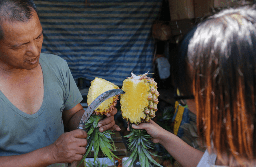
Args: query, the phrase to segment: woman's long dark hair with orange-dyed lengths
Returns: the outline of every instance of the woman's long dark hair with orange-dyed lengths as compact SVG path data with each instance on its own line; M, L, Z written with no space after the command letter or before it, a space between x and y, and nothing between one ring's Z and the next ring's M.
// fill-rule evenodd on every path
M188 45L187 62L193 73L200 139L218 157L227 155L242 166L253 166L256 157L255 7L226 9L199 23Z

